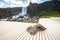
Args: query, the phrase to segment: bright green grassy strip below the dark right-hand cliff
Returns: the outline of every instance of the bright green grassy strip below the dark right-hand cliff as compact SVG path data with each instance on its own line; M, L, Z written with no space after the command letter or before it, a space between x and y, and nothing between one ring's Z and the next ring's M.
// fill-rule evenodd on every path
M36 12L35 15L40 16L42 18L60 17L60 13L59 12L42 11L42 12Z

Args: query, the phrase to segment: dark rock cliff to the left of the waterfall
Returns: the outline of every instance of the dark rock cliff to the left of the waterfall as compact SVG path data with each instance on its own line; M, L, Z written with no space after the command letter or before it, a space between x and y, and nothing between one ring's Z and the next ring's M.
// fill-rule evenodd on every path
M21 7L15 8L0 8L0 18L12 17L21 12Z

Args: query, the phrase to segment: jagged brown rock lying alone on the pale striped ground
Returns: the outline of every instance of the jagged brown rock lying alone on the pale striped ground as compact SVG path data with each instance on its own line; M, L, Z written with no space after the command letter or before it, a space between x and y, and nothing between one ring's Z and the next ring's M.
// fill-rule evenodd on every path
M38 31L44 31L46 30L46 28L40 24L37 24L37 25L34 25L33 27L29 26L26 30L29 34L35 35Z

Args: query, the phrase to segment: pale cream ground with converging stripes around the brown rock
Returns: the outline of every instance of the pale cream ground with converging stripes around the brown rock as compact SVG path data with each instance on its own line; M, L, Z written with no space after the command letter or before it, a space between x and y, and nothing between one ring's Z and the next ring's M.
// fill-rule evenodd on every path
M36 23L0 21L0 40L60 40L60 21L40 19L38 23L47 29L33 36L26 28Z

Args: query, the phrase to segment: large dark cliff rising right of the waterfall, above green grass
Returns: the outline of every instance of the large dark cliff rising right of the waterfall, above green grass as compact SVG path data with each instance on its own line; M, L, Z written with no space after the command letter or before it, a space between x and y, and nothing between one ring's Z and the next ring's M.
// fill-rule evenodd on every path
M46 1L40 4L30 3L27 10L30 16L34 16L34 13L41 11L60 12L60 1Z

